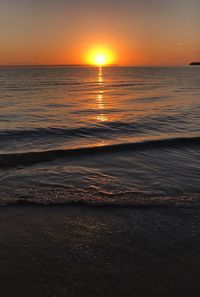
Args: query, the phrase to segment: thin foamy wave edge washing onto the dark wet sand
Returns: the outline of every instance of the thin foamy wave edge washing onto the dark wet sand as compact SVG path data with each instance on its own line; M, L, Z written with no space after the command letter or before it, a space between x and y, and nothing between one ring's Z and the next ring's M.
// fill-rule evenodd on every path
M132 194L132 195L131 195ZM125 197L124 197L125 196ZM136 197L135 197L136 196ZM78 198L79 197L79 198ZM156 195L135 195L130 193L129 197L123 193L119 195L113 195L112 199L107 197L87 199L85 196L77 197L72 196L68 199L60 200L43 200L43 199L6 199L0 201L0 207L8 206L43 206L43 207L62 207L67 205L74 206L90 206L90 207L134 207L134 208L200 208L200 194L191 193L180 196L156 196Z

